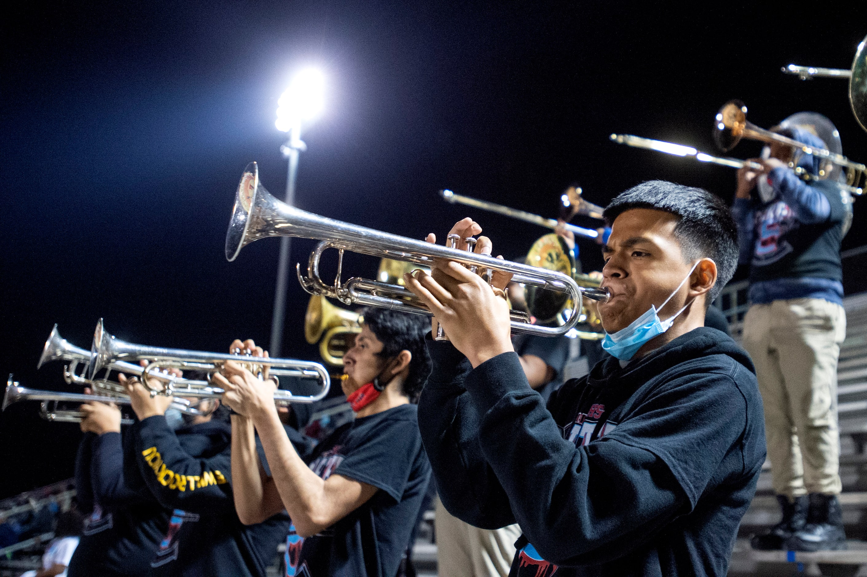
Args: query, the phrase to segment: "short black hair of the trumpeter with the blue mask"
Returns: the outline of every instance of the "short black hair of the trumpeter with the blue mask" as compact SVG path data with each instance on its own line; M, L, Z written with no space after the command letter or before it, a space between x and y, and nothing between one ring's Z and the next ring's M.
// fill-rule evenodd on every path
M710 305L738 267L738 227L720 197L703 188L685 187L667 180L648 180L618 194L605 207L603 217L611 223L632 208L651 208L672 213L680 220L675 238L687 262L709 258L716 263L716 284L710 290Z

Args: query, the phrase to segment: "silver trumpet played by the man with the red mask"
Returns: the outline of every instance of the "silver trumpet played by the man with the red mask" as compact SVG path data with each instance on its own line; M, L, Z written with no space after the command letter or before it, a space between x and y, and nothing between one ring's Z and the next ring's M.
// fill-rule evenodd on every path
M320 390L316 395L293 395L289 390L277 389L274 391L274 401L278 404L286 403L315 403L323 399L331 386L329 371L322 364L312 361L302 361L295 358L260 358L251 355L188 351L186 349L167 349L145 344L132 344L114 338L105 330L102 319L96 324L94 331L94 343L88 354L88 376L93 376L102 368L117 365L126 361L150 361L144 369L140 370L141 384L151 394L174 395L180 397L215 398L220 397L225 391L214 386L210 379L207 381L192 381L189 379L170 377L160 373L160 369L191 369L205 370L214 373L220 370L226 361L236 361L245 364L254 374L260 376L268 367L272 377L301 377L315 378ZM128 363L125 363L128 364ZM131 366L136 366L132 364ZM161 384L153 384L151 379L156 377Z

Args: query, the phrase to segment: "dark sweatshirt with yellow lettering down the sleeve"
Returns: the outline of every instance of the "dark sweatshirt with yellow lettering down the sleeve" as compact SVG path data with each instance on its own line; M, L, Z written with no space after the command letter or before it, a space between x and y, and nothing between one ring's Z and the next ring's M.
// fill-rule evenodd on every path
M264 577L289 530L285 515L257 525L238 519L231 493L231 425L212 420L173 431L166 417L134 423L137 464L171 512L151 575Z

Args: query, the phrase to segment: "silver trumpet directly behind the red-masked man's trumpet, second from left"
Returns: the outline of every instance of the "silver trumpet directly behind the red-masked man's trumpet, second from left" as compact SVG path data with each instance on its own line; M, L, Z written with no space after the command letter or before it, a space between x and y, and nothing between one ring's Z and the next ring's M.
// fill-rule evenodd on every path
M117 381L108 379L108 373L112 370L117 370L118 372L141 377L142 373L145 371L137 364L118 361L115 363L109 363L105 367L106 376L104 378L88 378L85 377L85 375L88 372L90 357L90 351L77 347L75 344L70 344L68 340L60 336L60 333L57 331L57 325L54 325L54 328L51 329L51 334L49 335L48 340L45 341L45 346L42 348L42 355L39 357L39 363L36 364L36 368L39 369L42 367L42 364L50 363L52 361L68 361L68 364L63 368L63 380L68 384L80 384L82 387L90 387L92 390L100 392L107 397L114 398L115 402L118 402L117 399L128 399L127 390ZM79 364L84 364L84 370L81 375L76 373ZM182 386L207 386L208 384L207 381L196 381L174 377L173 375L160 373L155 370L148 371L148 377L152 379L155 378L164 383L180 384ZM208 415L211 412L201 411L193 407L192 403L184 398L176 398L172 403L172 407L188 415Z

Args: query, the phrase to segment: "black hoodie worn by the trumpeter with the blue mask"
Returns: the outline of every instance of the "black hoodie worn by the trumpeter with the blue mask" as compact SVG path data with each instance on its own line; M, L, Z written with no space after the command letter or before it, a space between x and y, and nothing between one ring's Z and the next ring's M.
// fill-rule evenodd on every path
M726 574L765 461L731 338L701 327L625 368L611 357L548 410L515 353L473 370L450 343L428 350L419 426L440 498L477 527L520 524L510 575Z

